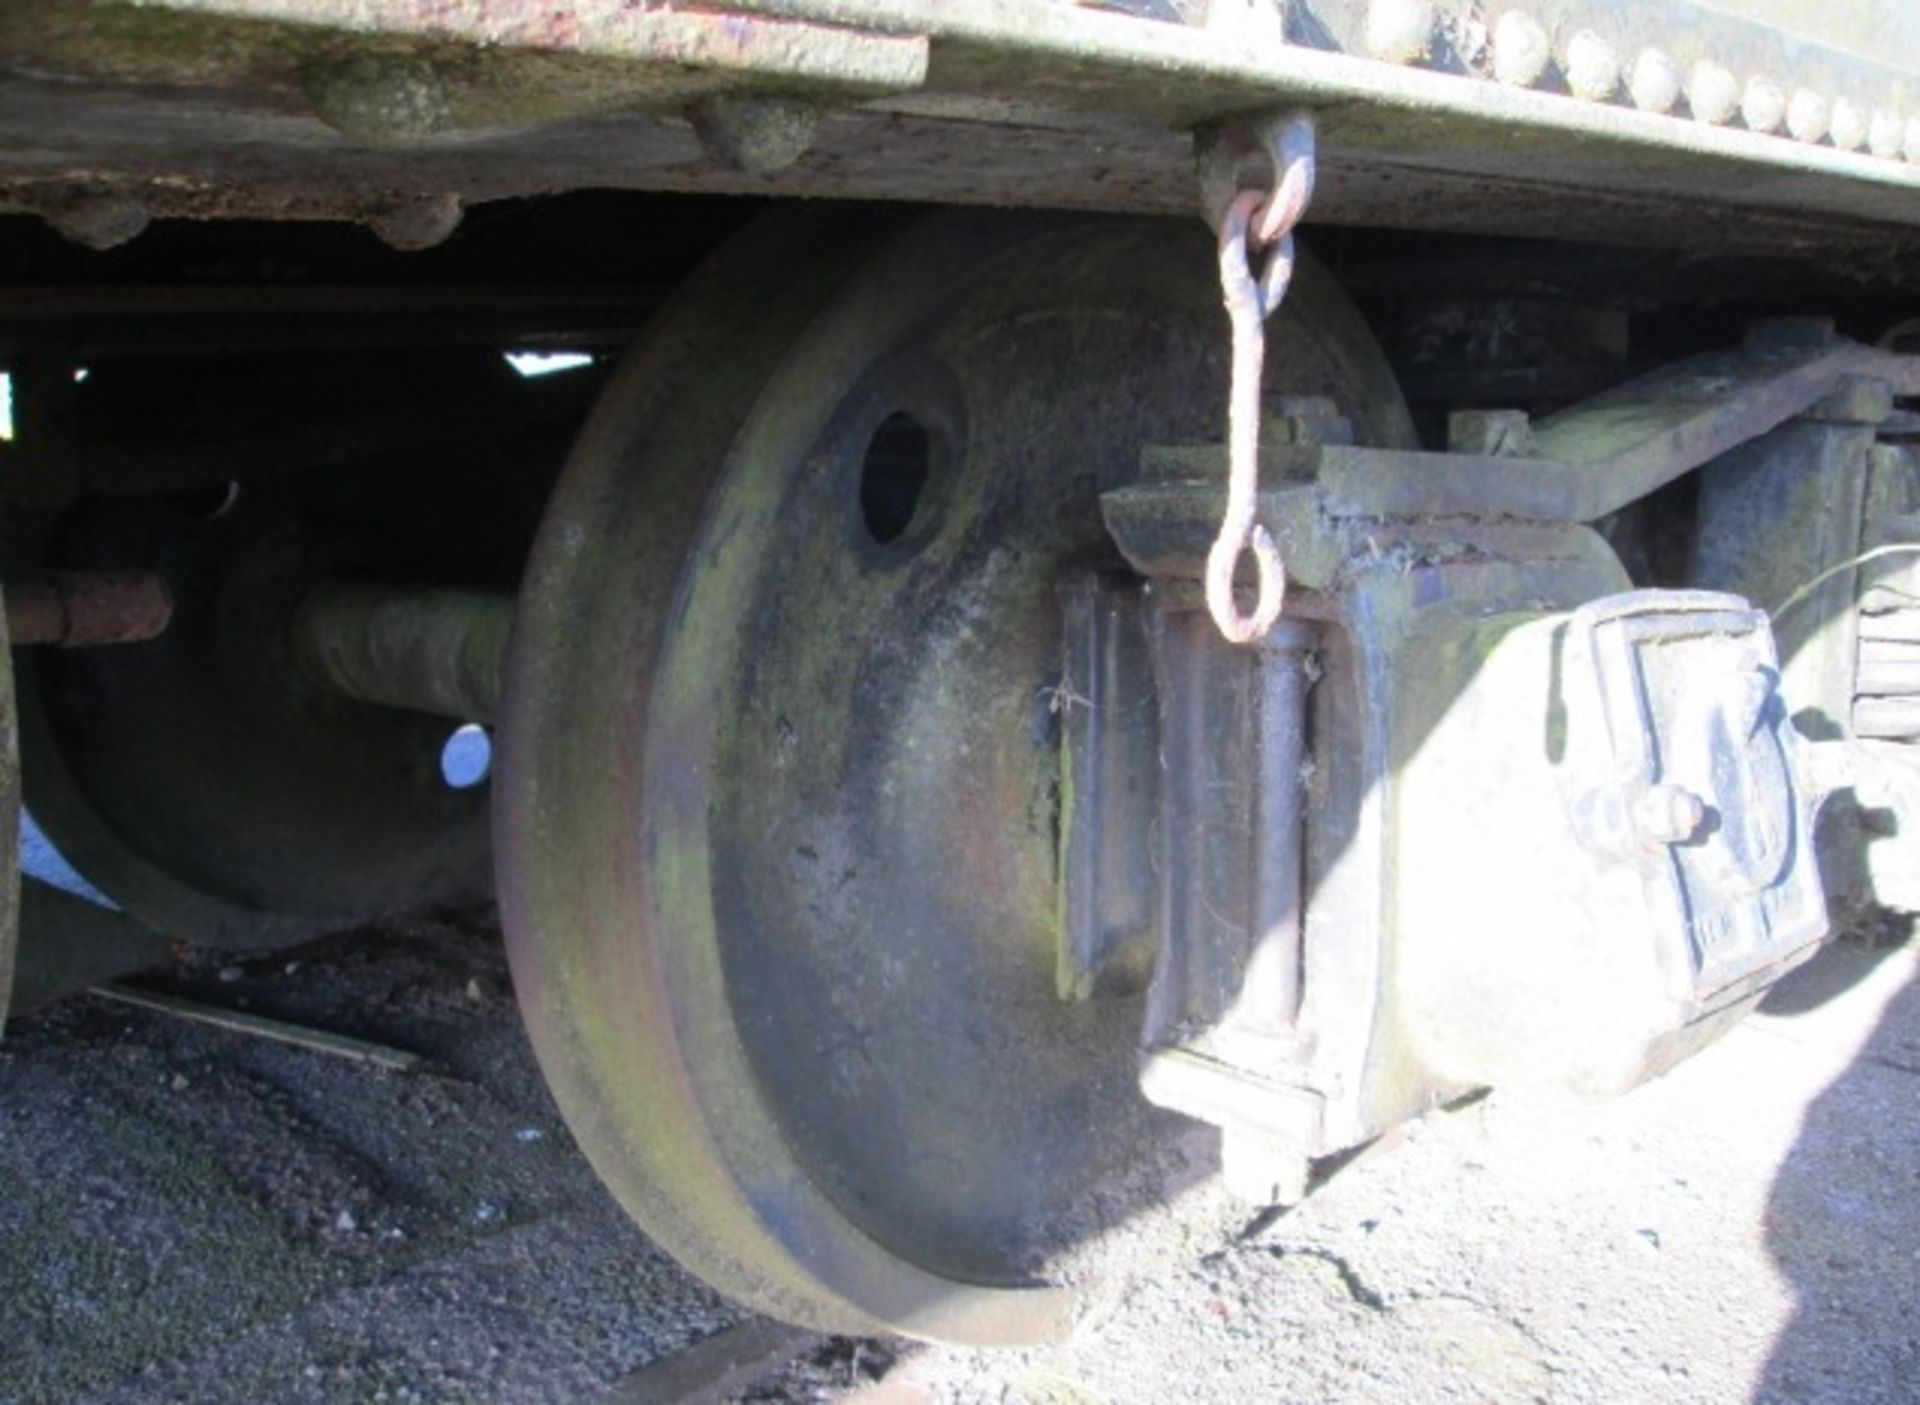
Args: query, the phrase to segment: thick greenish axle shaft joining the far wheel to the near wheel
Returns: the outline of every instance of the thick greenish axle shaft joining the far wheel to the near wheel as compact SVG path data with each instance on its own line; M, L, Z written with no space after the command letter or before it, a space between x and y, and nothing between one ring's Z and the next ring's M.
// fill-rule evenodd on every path
M505 591L330 582L294 616L294 656L359 702L492 722L511 628Z

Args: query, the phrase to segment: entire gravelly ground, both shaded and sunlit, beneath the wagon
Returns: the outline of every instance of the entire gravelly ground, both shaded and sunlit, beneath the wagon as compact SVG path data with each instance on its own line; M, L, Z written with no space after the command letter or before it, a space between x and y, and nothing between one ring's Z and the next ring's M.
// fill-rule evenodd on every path
M430 1063L98 998L15 1021L0 1401L641 1401L751 1336L582 1163L486 917L167 985ZM1069 1345L808 1342L745 1397L1914 1401L1916 1094L1920 956L1836 944L1668 1079L1432 1119Z

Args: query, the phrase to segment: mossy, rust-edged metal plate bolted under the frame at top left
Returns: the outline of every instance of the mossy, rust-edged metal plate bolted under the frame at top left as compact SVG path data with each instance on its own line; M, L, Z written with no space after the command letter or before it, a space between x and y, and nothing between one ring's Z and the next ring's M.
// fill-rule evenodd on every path
M69 79L246 94L363 142L678 113L722 90L914 88L925 44L799 21L549 4L0 6L0 60Z

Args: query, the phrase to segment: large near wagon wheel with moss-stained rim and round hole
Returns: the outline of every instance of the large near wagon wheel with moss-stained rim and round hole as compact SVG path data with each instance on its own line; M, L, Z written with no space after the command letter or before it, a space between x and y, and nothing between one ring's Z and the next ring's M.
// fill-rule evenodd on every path
M1271 392L1405 409L1306 263ZM1087 1246L1210 1173L1137 998L1054 987L1064 572L1217 436L1206 234L783 215L609 386L524 578L495 804L536 1050L720 1290L822 1328L1064 1332Z

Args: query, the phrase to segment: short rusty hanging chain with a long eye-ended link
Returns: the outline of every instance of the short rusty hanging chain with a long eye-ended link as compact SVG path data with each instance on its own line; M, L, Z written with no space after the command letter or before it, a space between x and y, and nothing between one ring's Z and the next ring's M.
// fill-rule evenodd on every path
M1219 286L1233 326L1227 390L1227 514L1206 559L1206 605L1229 643L1252 643L1273 628L1286 603L1286 562L1260 511L1260 382L1267 357L1267 319L1294 274L1294 225L1313 198L1313 119L1296 113L1265 132L1273 190L1236 190L1219 215ZM1265 250L1256 271L1254 259ZM1233 576L1240 553L1254 555L1258 597L1240 614Z

